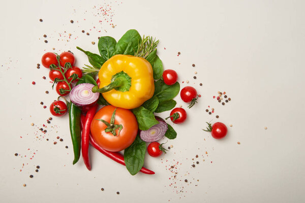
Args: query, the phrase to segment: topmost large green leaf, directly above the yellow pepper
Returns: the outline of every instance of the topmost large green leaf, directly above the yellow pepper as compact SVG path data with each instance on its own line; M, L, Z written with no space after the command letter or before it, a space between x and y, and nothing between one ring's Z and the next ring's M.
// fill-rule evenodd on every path
M135 55L142 38L135 29L128 30L115 45L115 54Z

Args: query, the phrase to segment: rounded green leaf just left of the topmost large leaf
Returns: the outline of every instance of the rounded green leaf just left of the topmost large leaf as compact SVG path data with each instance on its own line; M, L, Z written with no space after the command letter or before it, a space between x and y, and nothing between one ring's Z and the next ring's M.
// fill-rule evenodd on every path
M111 58L111 56L114 55L115 45L116 45L116 41L112 37L106 36L106 37L101 37L99 39L99 44L98 44L99 52L105 60L108 60L109 58Z

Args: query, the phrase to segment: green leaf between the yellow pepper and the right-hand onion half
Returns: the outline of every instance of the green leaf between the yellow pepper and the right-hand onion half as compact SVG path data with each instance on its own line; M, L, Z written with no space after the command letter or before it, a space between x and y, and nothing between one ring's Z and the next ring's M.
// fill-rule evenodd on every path
M153 112L145 109L142 106L133 109L132 112L137 118L140 130L148 130L151 126L159 123L159 121L156 120Z

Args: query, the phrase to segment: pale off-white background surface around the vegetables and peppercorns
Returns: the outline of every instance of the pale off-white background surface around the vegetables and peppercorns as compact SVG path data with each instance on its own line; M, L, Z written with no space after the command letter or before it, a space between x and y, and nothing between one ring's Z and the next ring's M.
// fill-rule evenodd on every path
M1 201L304 202L304 2L121 2L2 3ZM105 3L112 6L115 28L94 8ZM145 157L145 166L156 175L131 176L125 167L94 149L89 150L93 164L89 172L81 159L72 165L67 116L53 118L52 128L40 140L38 128L50 116L40 101L48 106L57 95L48 82L48 70L42 66L37 70L36 63L55 47L57 53L74 52L77 65L82 66L87 59L76 46L98 53L99 36L118 40L131 28L160 39L158 54L165 69L176 70L181 88L187 85L181 82L189 80L202 97L187 110L187 122L174 126L178 136L166 144L174 146L171 151L161 158ZM82 29L90 35L81 33ZM67 42L68 37L58 37L58 33L72 33L77 39ZM232 101L221 106L212 98L217 91L226 91ZM179 96L176 100L187 109ZM208 115L207 106L216 113ZM212 139L201 130L212 119L233 125L224 140ZM31 126L32 122L37 126ZM58 144L53 145L54 141ZM196 154L200 163L192 168ZM166 168L177 161L173 179ZM41 166L39 173L36 165Z

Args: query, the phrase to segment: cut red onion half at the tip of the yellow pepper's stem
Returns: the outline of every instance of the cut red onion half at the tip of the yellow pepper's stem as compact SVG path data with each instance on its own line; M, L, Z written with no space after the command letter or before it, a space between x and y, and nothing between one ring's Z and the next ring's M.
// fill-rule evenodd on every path
M99 99L100 93L93 93L93 87L94 85L90 83L76 85L70 92L70 100L78 107L95 104Z

